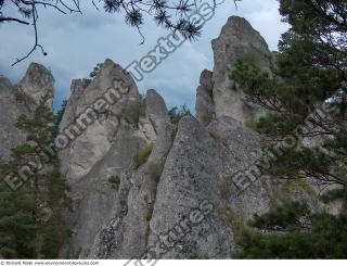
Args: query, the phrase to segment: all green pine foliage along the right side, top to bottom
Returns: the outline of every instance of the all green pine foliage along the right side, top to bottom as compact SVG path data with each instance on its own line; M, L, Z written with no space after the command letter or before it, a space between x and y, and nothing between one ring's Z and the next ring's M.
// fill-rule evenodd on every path
M272 147L284 143L287 136L297 139L262 173L346 186L347 5L333 0L280 0L280 12L292 27L282 36L272 74L248 59L240 60L231 74L249 101L270 111L249 122L250 128L266 135ZM325 109L317 112L318 106ZM303 139L312 137L320 137L320 148L303 144ZM332 190L321 200L346 201L345 193L345 189ZM249 223L258 230L243 231L239 256L346 258L346 212L334 216L310 214L300 203L278 206Z

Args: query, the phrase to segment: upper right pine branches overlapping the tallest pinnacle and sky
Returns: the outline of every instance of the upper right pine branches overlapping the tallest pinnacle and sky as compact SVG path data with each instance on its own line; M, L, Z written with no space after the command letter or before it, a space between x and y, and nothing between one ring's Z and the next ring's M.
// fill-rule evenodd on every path
M271 145L286 136L321 137L324 149L303 147L298 141L264 174L347 185L347 48L343 45L347 42L346 3L280 3L280 12L292 28L280 41L273 75L241 60L231 76L252 102L271 111L252 123L252 128L272 139ZM314 113L322 103L330 111Z

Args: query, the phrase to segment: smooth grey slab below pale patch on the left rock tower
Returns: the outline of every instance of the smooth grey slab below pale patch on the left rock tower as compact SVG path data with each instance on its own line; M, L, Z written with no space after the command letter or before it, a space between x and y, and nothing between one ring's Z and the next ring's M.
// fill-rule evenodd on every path
M74 233L62 257L110 258L114 250L119 249L123 239L116 233L128 212L130 169L138 145L132 127L120 125L104 157L72 186L75 211L67 221ZM120 178L119 190L108 182L112 176Z

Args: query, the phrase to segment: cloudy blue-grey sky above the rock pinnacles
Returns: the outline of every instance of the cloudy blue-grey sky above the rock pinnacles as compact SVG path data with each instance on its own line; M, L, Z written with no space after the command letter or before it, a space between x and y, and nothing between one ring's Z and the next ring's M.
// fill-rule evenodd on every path
M81 2L83 15L44 11L39 17L39 38L48 56L37 51L13 67L11 64L15 59L31 48L33 29L17 24L0 26L0 74L17 83L30 62L46 65L55 78L55 107L68 98L72 79L88 77L93 66L107 58L126 67L145 55L156 46L158 38L168 34L147 21L143 26L145 42L140 46L141 37L136 29L125 25L121 14L105 14L97 11L90 1ZM147 74L138 84L140 92L156 89L169 107L185 103L194 110L200 74L214 65L210 41L219 36L228 17L245 17L265 37L270 49L277 50L281 34L287 29L287 25L281 23L278 9L277 0L243 0L237 9L233 0L226 0L204 26L202 37L195 42L187 41Z

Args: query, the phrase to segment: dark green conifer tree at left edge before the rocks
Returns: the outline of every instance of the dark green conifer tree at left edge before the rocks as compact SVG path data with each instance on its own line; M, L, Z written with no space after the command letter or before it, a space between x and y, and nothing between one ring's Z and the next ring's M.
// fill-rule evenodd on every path
M38 152L57 132L49 99L48 93L42 97L33 116L18 117L16 126L27 142L12 149L12 159L0 164L3 177L22 166L31 173L16 191L0 185L0 256L5 258L55 258L68 236L61 212L70 201L60 160L56 153L43 156Z

